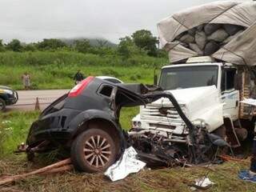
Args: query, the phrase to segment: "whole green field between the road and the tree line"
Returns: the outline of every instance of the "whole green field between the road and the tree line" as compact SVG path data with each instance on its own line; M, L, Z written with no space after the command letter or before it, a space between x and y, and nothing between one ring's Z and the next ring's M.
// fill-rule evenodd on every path
M124 82L153 83L154 68L167 63L166 58L134 56L99 56L76 52L0 53L0 84L22 90L21 76L30 74L33 89L69 89L74 74L82 70L86 76L108 75Z

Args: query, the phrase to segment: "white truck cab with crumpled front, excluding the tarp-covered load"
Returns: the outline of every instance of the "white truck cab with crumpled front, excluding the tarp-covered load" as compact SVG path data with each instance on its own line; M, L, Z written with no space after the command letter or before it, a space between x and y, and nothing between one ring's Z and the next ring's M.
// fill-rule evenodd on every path
M241 103L250 98L254 86L250 76L245 66L196 57L184 64L163 66L158 86L174 95L194 125L202 124L238 147L250 132L242 125L253 127L253 111ZM134 129L162 133L173 142L186 142L186 125L165 98L140 106L132 124Z

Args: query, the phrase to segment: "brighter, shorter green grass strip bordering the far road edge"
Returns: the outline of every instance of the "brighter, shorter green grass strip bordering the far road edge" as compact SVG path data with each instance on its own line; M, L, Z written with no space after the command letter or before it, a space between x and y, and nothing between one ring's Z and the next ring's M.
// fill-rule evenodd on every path
M153 83L154 70L143 69L132 66L125 68L122 66L5 66L1 70L0 82L2 85L11 86L13 89L22 90L21 75L24 71L30 73L32 86L34 89L70 89L74 86L73 76L78 69L81 69L86 76L108 75L120 78L123 82Z

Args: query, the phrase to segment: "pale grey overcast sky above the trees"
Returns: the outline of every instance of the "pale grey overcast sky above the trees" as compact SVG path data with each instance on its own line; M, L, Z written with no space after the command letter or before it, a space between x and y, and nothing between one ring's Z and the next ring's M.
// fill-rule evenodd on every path
M178 10L213 0L0 0L0 39L118 38L151 30Z

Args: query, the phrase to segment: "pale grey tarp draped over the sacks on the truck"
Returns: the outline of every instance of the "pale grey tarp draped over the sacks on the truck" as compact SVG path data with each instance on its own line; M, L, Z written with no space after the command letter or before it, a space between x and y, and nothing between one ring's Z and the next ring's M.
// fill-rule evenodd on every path
M159 22L160 42L169 51L170 62L198 56L193 50L174 42L174 39L182 32L204 23L246 27L242 34L211 56L238 65L256 65L256 2L253 1L212 2L183 10Z

